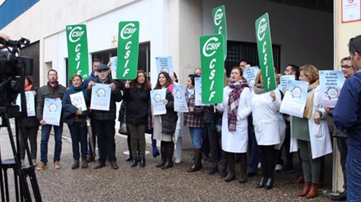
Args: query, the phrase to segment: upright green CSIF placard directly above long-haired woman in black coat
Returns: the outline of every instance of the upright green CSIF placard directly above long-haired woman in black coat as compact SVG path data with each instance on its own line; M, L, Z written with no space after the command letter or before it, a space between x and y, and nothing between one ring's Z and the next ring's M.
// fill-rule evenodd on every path
M135 79L138 71L139 22L119 22L117 78Z

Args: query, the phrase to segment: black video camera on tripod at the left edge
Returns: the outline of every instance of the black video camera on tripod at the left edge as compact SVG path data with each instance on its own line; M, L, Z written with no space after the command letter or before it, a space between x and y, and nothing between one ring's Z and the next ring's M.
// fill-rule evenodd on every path
M19 48L29 45L30 40L0 38L0 44L5 47L0 50L0 106L10 106L21 93L21 111L26 112L24 79L25 75L32 75L33 59L20 56Z

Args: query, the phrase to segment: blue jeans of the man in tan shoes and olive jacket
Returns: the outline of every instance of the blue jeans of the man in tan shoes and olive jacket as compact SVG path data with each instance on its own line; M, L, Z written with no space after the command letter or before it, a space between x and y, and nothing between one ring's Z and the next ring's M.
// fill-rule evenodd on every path
M42 139L40 141L40 160L43 163L48 163L48 141L52 126L53 125L48 125L48 124L42 126ZM54 126L54 138L55 138L54 162L60 161L62 133L63 133L63 123L60 121L59 126Z

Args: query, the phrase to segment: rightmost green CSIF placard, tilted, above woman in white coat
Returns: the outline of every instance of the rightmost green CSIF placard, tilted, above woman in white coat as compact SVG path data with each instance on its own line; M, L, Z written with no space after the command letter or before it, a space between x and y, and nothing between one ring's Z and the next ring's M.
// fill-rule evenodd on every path
M258 60L262 73L262 79L266 92L277 88L276 76L273 67L273 53L271 42L271 31L268 13L256 20L256 40Z

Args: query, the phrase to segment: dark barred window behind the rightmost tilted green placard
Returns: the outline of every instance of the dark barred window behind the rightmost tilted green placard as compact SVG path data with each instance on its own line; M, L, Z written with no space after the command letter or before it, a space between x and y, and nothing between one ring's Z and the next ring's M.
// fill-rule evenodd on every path
M281 47L272 45L273 63L280 68ZM227 59L225 60L225 69L229 76L232 67L239 66L240 59L248 60L252 66L259 66L257 43L227 41Z

